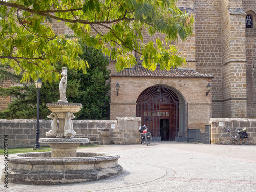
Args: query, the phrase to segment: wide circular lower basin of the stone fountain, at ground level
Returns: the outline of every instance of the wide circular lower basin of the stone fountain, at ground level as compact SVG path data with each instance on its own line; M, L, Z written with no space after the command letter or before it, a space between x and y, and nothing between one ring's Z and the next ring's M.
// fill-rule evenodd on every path
M8 182L54 185L104 179L122 173L119 158L93 152L66 158L52 158L51 152L12 154L8 157Z

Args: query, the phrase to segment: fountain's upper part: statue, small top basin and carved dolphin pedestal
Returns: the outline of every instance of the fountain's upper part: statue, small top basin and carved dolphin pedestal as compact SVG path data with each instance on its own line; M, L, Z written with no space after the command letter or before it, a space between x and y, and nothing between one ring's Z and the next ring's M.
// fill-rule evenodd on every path
M62 67L62 78L59 83L59 94L60 100L57 103L47 103L46 106L53 112L48 118L53 119L49 132L46 132L48 137L56 138L74 138L76 132L73 130L72 119L75 118L73 113L80 111L82 108L81 103L68 103L66 98L67 89L67 69ZM57 120L59 119L59 126L57 125Z

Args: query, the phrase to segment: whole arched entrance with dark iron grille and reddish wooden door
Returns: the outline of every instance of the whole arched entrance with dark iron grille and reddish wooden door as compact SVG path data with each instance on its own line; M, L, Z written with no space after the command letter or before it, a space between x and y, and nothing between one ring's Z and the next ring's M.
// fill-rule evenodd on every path
M153 141L187 141L187 105L175 88L147 88L136 103L136 116L148 127Z

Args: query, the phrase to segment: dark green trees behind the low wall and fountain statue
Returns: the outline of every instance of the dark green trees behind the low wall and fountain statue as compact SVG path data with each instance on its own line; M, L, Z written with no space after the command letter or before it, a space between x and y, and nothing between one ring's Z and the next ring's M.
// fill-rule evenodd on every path
M68 102L78 102L83 105L76 113L76 119L108 119L110 103L110 84L107 66L109 59L103 56L101 50L82 46L83 53L79 55L88 62L90 68L87 74L82 70L68 70L66 96ZM63 65L63 64L62 64ZM57 70L61 71L60 65ZM6 67L6 66L5 66ZM22 75L15 75L0 66L0 79L19 82ZM59 82L44 83L40 89L40 119L47 119L51 112L46 103L59 100ZM0 119L36 119L37 90L34 84L23 83L10 88L0 87L0 96L11 96L12 102L6 110L0 112Z

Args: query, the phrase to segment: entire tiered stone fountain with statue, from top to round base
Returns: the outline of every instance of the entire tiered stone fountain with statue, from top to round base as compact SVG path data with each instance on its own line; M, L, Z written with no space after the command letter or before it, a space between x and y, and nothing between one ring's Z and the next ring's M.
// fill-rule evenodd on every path
M62 68L59 84L60 100L47 103L52 119L47 138L39 139L47 143L51 152L20 153L8 156L8 182L18 184L51 185L84 182L103 179L122 173L118 155L106 153L77 152L80 143L88 143L87 138L75 138L73 113L82 108L81 103L68 103L66 98L67 68ZM58 123L59 122L59 123ZM59 124L59 126L58 126ZM1 180L4 180L4 170Z

